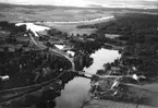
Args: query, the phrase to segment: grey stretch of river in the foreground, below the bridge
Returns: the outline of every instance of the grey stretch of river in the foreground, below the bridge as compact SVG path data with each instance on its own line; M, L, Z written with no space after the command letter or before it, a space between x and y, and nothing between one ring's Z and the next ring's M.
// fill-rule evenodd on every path
M65 85L61 97L57 98L56 108L80 108L88 94L90 81L84 77L76 77Z

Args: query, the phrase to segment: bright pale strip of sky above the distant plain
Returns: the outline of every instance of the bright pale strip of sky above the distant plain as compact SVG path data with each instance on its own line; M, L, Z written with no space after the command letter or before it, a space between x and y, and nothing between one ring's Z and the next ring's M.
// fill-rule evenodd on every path
M158 8L158 0L0 0L0 2L68 7Z

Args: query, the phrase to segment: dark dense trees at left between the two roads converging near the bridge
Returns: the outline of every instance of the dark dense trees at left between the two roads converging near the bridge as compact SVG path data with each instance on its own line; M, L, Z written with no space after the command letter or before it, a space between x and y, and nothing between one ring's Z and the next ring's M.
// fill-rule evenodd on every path
M5 48L3 52L0 52L0 75L11 77L3 88L24 86L41 82L45 79L52 79L59 75L60 71L69 70L71 67L70 61L45 50L24 51L23 48L20 48L10 52ZM47 76L50 73L53 75Z

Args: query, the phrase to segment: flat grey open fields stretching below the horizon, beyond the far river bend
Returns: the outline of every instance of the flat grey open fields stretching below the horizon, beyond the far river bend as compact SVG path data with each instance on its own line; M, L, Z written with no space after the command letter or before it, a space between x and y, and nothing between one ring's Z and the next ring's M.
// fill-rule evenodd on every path
M117 13L146 12L157 14L155 10L105 9L105 8L71 8L52 5L10 5L0 4L0 21L85 21L111 16Z

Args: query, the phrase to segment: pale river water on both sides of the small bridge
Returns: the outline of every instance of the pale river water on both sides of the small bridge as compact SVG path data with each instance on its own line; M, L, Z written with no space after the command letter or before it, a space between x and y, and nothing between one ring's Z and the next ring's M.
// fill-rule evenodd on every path
M96 73L98 69L102 68L104 63L112 62L114 59L120 58L118 50L99 49L92 55L94 63L84 70L88 73ZM57 98L56 108L80 108L85 97L88 95L90 88L90 80L84 77L75 77L69 82L61 96Z

